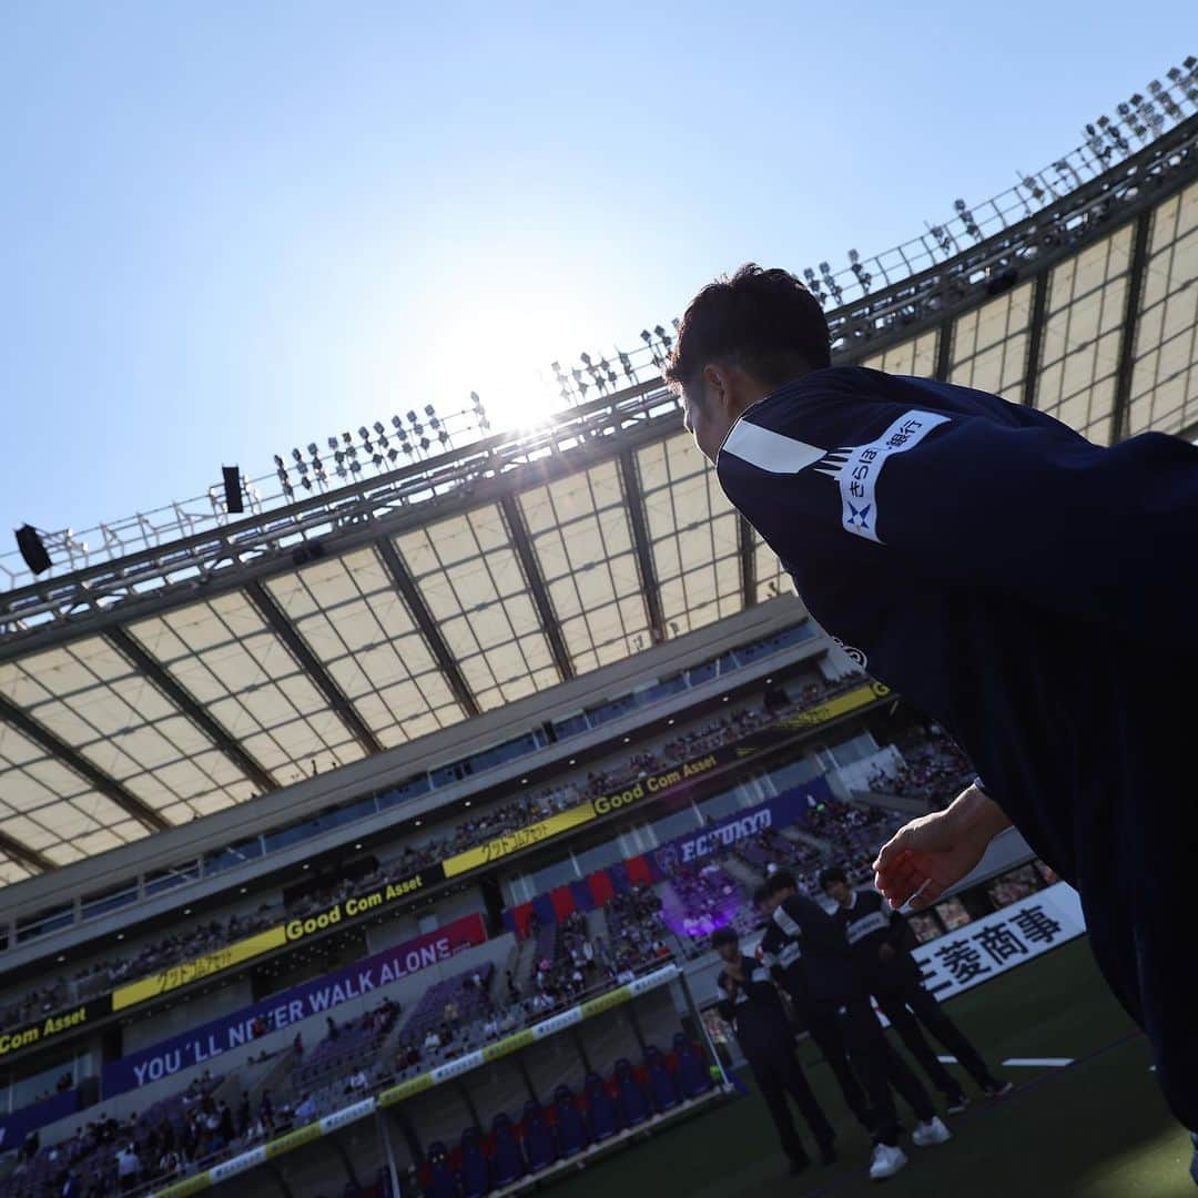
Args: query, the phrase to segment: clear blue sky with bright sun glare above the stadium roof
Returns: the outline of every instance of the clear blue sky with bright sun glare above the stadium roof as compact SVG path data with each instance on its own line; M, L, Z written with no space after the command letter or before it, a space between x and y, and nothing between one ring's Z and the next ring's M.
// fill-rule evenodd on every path
M24 4L0 16L0 550L876 253L1078 144L1193 0Z

